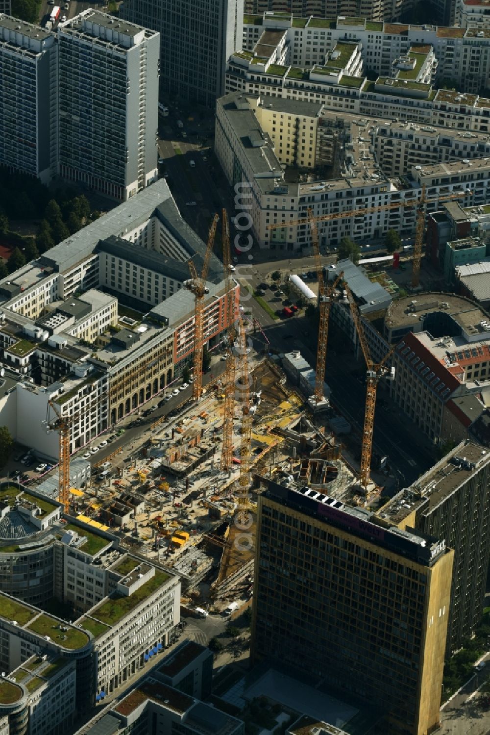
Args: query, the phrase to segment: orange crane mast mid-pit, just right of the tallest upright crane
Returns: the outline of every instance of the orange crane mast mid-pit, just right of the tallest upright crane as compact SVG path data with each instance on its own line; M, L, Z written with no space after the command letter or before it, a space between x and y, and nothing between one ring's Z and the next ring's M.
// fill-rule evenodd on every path
M240 384L239 392L241 393L242 404L242 442L240 444L240 474L239 474L239 492L238 492L238 513L237 520L240 525L246 526L248 523L248 495L251 485L250 465L251 465L251 442L252 442L252 413L250 401L250 376L248 375L248 359L247 359L247 339L245 335L245 327L242 318L239 318L239 335L237 356L239 360Z

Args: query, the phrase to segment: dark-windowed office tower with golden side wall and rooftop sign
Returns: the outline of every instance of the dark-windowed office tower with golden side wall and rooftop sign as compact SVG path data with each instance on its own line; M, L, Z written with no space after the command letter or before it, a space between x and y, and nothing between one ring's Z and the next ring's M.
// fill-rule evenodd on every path
M368 700L392 734L439 723L453 551L307 487L259 496L253 661Z

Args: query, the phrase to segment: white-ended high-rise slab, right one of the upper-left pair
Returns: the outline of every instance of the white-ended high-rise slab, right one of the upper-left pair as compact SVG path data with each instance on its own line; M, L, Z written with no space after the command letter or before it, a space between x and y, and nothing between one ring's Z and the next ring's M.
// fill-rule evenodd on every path
M60 176L125 201L158 176L159 35L85 10L58 43Z

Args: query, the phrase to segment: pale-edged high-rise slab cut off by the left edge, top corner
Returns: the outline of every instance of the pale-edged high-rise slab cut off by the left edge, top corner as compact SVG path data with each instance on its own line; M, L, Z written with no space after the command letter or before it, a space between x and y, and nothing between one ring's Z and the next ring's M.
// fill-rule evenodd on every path
M0 163L47 184L57 171L54 35L0 15Z

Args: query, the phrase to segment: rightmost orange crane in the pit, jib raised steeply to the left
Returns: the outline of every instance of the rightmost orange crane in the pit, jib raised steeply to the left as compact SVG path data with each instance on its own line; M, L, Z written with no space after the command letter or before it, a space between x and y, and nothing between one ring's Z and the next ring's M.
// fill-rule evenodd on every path
M366 360L367 375L366 375L366 409L364 413L364 426L362 429L362 448L361 448L361 473L360 481L361 487L364 488L364 492L367 495L367 486L370 481L370 468L371 468L371 454L372 454L372 435L374 431L375 423L375 407L376 407L376 391L378 390L378 382L383 376L389 374L391 379L394 378L394 368L386 367L386 361L392 356L394 348L386 353L381 362L375 365L371 358L370 348L367 345L366 335L364 334L364 327L362 326L361 315L357 308L356 301L354 301L350 288L345 286L347 290L347 298L349 300L350 312L356 326L357 334L359 335L359 342L361 343L362 354Z

